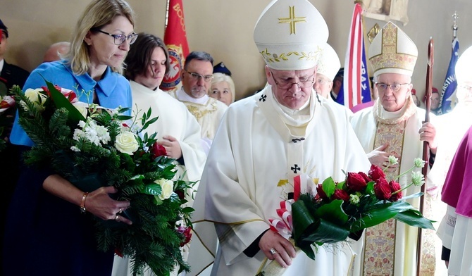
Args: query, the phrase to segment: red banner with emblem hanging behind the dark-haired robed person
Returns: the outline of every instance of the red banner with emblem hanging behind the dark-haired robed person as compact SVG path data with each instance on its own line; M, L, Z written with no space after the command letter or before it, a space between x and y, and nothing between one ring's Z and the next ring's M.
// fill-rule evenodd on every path
M180 84L180 72L185 63L185 57L189 54L182 0L169 1L164 43L169 51L170 70L162 81L161 89L172 90Z

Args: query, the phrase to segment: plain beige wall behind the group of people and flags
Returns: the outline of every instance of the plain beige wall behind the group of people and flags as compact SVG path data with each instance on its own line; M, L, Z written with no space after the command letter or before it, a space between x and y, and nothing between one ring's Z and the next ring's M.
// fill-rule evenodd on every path
M310 0L321 12L330 29L330 43L344 63L354 1ZM266 82L263 61L254 45L252 32L259 14L270 0L183 0L190 50L208 51L216 63L223 61L233 73L237 99L253 93ZM0 0L0 18L10 37L6 60L27 70L42 61L49 44L68 40L77 17L88 0ZM129 0L137 13L137 32L163 37L165 0ZM409 23L402 26L418 46L418 62L413 75L414 87L423 96L429 38L435 40L433 85L441 89L451 54L452 14L459 14L461 52L472 45L468 26L472 26L470 0L410 0ZM375 23L365 18L369 30ZM368 44L368 42L367 42Z

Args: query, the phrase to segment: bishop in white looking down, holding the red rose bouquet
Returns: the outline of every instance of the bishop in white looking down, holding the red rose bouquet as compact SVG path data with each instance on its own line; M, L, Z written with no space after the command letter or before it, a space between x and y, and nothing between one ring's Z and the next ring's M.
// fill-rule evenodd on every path
M280 20L290 14L303 20ZM194 204L194 232L204 246L192 241L192 275L212 256L212 275L256 275L271 260L287 268L284 275L348 274L361 241L318 246L313 261L269 229L280 201L294 192L279 180L306 175L340 182L343 170L370 168L347 109L316 99L316 63L327 40L328 26L307 0L272 1L261 14L254 42L268 85L232 103L213 139ZM209 246L216 244L212 230L217 251Z

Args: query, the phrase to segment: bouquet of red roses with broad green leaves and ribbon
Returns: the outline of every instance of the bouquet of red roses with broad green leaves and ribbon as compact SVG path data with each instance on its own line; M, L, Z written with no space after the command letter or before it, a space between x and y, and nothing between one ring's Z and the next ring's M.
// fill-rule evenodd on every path
M397 158L389 157L389 165L397 163ZM424 184L421 172L412 171L423 166L423 160L416 158L414 166L402 174L411 172L411 183L406 187L400 187L395 181L402 175L388 182L385 172L376 165L371 165L368 174L348 172L346 180L339 183L332 177L325 179L322 184L318 184L316 179L309 180L313 183L313 188L306 187L307 192L304 194L301 192L304 180L298 175L293 183L294 199L280 202L277 210L280 218L269 220L271 230L285 237L290 236L290 241L297 246L297 250L304 251L313 260L313 247L343 242L347 237L359 239L364 229L390 218L411 226L434 230L432 221L424 218L406 202L406 199L423 193L405 197L402 195L402 191L412 184ZM280 182L287 183L288 180ZM258 275L282 275L284 270L277 261L272 261Z

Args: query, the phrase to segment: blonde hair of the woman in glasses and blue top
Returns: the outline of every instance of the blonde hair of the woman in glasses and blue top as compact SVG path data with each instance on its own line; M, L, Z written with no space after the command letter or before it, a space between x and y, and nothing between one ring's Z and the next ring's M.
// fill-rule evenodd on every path
M84 39L92 28L101 28L108 25L117 16L123 15L135 26L135 13L130 5L123 0L94 0L80 16L73 30L70 42L70 51L66 60L76 75L87 73L90 66L89 46ZM116 73L123 73L123 64L119 68L111 68Z

